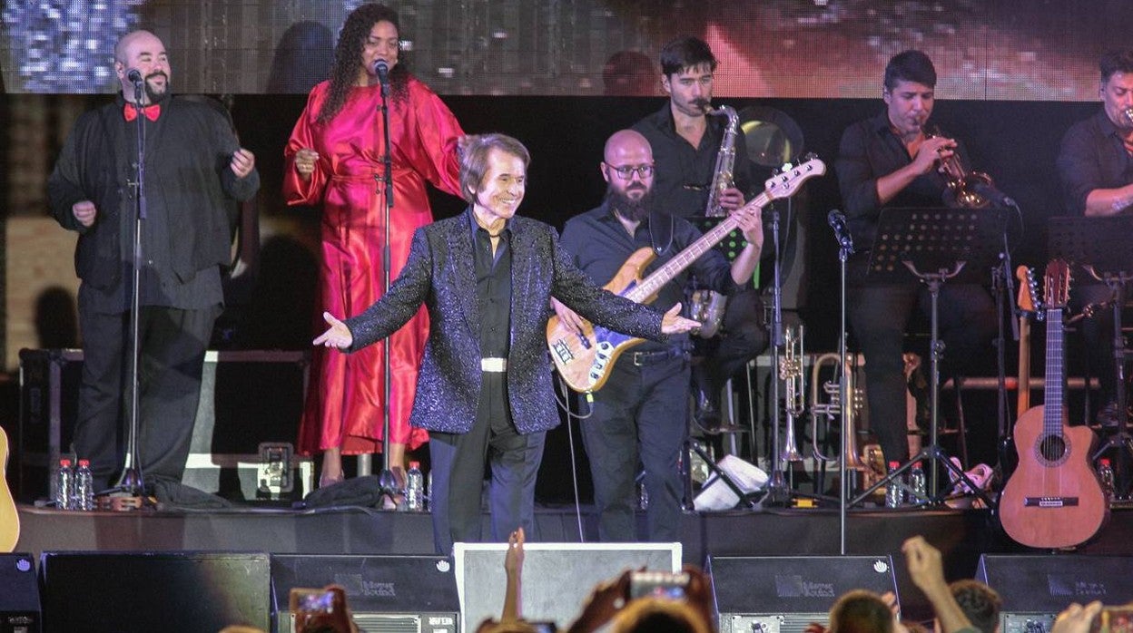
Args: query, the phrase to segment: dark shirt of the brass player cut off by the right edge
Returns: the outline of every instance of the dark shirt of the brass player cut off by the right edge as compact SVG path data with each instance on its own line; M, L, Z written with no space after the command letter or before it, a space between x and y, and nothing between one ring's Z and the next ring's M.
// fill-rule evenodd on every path
M1133 182L1133 159L1105 110L1066 130L1056 164L1070 215L1085 213L1090 191Z

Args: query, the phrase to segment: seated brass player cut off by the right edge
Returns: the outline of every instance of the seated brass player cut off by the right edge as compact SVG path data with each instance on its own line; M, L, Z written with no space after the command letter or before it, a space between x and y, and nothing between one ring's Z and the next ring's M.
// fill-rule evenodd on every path
M1102 217L1133 209L1133 50L1102 55L1098 69L1101 110L1066 131L1056 162L1066 215ZM1108 298L1105 284L1076 275L1071 289L1075 307ZM1087 362L1101 387L1097 411L1102 426L1118 420L1113 327L1109 309L1094 310L1082 326Z

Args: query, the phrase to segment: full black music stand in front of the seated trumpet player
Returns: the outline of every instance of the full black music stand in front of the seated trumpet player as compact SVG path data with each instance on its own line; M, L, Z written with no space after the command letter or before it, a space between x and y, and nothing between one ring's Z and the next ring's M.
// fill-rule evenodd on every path
M897 478L911 469L913 464L926 461L928 463L928 498L923 502L927 505L940 505L944 502L938 485L939 473L936 468L937 462L939 462L966 484L970 489L974 490L987 504L987 507L994 506L982 488L977 486L962 468L952 463L948 455L938 445L943 345L939 341L937 302L940 286L946 281L951 279L978 280L982 270L995 265L1000 255L999 248L1003 243L1005 225L1003 212L996 209L881 209L877 236L874 238L874 247L869 256L866 283L908 282L909 275L912 274L928 285L931 298L929 444L921 447L920 452L908 462L854 497L849 505L863 502L881 486L894 485ZM918 499L918 502L920 501Z

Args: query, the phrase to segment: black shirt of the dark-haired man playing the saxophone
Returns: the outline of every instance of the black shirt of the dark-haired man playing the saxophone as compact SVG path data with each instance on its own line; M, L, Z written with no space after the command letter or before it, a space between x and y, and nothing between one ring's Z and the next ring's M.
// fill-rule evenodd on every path
M716 155L727 127L726 117L709 116L707 119L708 128L697 147L676 134L668 101L657 112L633 123L633 129L641 132L653 147L656 165L653 190L663 213L678 217L705 214L708 193L716 174ZM735 164L732 173L735 188L743 193L744 199L750 199L753 194L752 166L742 130L735 135Z

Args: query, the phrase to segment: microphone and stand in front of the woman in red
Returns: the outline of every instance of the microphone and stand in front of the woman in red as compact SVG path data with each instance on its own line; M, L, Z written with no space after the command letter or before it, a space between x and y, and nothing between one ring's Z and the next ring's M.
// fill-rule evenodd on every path
M378 75L381 77L381 75ZM378 194L384 195L384 229L382 242L382 296L390 291L390 215L393 209L393 161L390 156L390 83L389 79L382 84L382 142L385 154L382 156L382 176L374 177L380 183ZM401 494L401 486L398 485L397 477L390 465L390 397L392 394L392 382L390 379L390 339L382 343L382 473L377 478L381 497L389 497L397 504L397 495ZM358 460L359 474L369 474L369 455L360 455ZM364 472L365 471L365 472Z

